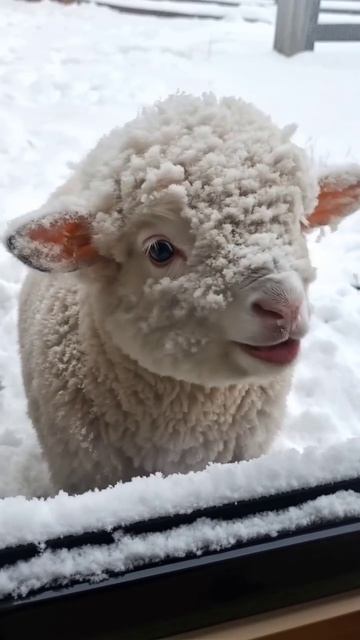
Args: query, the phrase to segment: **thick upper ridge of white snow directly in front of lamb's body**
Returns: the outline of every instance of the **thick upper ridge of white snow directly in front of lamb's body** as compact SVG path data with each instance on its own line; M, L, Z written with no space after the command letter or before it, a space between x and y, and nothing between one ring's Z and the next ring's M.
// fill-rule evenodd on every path
M359 473L360 438L326 449L282 451L205 471L160 474L80 496L0 501L0 549L346 480Z

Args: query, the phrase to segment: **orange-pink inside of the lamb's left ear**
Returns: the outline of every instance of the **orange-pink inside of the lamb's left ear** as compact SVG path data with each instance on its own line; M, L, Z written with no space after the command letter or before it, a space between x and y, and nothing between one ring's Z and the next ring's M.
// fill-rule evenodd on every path
M62 219L49 226L37 225L28 231L31 240L42 245L55 245L59 262L85 264L98 257L93 246L88 220L84 217L76 220Z

